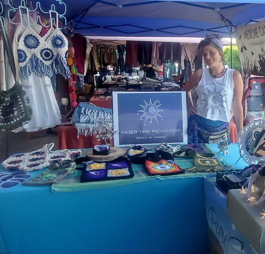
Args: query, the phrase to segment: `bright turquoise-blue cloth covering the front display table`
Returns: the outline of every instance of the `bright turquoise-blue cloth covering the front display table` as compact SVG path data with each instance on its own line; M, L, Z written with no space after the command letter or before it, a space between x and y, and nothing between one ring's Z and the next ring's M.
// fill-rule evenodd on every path
M234 164L237 144L228 151ZM0 189L0 253L206 254L204 175L57 193L48 185Z

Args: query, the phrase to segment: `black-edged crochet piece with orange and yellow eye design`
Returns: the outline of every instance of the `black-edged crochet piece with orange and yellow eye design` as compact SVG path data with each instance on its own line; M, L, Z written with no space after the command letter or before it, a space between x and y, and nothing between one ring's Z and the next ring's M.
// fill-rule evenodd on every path
M173 175L184 173L172 160L163 159L158 162L146 160L144 168L148 175Z

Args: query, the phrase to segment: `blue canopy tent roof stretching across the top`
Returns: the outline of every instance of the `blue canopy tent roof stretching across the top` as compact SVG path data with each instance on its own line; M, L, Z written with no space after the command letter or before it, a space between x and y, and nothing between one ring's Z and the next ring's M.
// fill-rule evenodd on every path
M265 19L265 0L39 1L42 6L54 4L59 14L66 4L65 16L74 31L88 36L204 37L220 33L227 37L238 25Z

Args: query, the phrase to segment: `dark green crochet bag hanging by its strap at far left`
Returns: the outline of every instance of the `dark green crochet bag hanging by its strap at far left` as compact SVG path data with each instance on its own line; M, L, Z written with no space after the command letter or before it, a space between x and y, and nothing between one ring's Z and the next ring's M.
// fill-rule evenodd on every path
M0 19L1 21L1 19ZM10 41L7 37L3 24L0 22L0 30L3 38L3 48L7 54L14 79L15 63ZM0 91L0 130L14 130L31 119L32 110L29 99L22 86L16 81L15 85L7 91Z

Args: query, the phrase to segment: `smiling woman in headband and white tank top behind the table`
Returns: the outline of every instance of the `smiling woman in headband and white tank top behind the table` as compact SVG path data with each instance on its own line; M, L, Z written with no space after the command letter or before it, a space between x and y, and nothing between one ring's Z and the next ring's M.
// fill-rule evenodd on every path
M218 35L207 36L198 50L208 68L197 70L183 85L187 90L189 143L216 143L229 139L231 111L237 132L243 128L243 81L238 71L224 67L223 44ZM194 105L191 90L195 87L198 99Z

